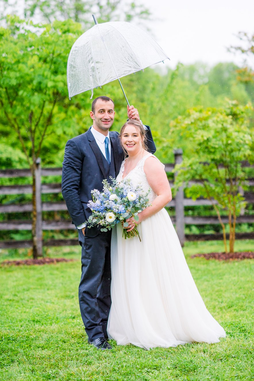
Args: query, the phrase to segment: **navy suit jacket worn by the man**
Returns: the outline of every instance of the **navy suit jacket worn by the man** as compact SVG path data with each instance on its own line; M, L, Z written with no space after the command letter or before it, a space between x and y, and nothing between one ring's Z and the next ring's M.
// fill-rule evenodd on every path
M62 163L62 195L75 226L83 224L91 215L87 203L91 200L91 190L102 191L102 180L109 180L109 168L99 149L91 128L84 134L67 141L64 161ZM156 150L150 127L147 126L147 146L150 152ZM115 163L115 177L118 175L124 152L120 145L119 134L109 132L111 155ZM112 160L111 160L112 162ZM88 229L86 234L94 236L99 233L97 227Z

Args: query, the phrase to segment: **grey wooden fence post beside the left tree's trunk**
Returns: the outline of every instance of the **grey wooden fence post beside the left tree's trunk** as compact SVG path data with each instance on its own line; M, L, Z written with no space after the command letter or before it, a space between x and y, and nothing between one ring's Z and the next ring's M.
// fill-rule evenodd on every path
M36 160L35 170L35 201L36 201L36 240L38 256L42 256L42 169L41 159Z

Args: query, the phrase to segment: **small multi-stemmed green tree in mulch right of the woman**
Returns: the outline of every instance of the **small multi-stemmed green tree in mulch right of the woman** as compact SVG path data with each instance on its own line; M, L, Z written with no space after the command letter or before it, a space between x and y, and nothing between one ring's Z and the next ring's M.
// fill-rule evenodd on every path
M228 252L228 245L221 216L227 214L229 251L233 252L236 217L244 201L239 187L244 187L246 180L241 161L254 161L250 110L250 105L239 106L236 101L228 101L220 109L189 110L187 116L171 123L171 138L180 134L183 140L189 141L182 164L175 168L176 187L196 180L186 188L187 195L194 200L200 196L211 200L222 226L225 252Z

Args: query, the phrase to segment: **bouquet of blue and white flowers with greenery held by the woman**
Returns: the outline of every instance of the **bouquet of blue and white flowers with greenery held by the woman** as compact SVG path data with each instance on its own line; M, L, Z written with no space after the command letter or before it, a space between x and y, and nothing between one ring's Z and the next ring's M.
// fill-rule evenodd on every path
M128 227L126 219L134 217L134 220L138 221L138 213L150 205L147 197L149 192L145 193L140 185L133 188L130 179L120 183L112 179L112 184L103 180L102 184L102 192L97 189L91 191L92 200L88 202L88 207L92 214L87 221L88 228L101 225L101 231L106 232L120 222L123 223L123 227ZM139 237L136 226L130 232L123 229L123 237ZM141 241L140 237L139 240Z

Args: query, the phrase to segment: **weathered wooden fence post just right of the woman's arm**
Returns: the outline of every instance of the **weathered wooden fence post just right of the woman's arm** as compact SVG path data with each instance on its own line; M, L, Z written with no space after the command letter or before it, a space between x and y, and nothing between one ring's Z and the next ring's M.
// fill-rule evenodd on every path
M175 165L182 163L182 149L174 150ZM174 173L174 180L176 180L177 172ZM179 187L175 196L175 211L176 211L176 232L181 243L184 246L184 188Z

